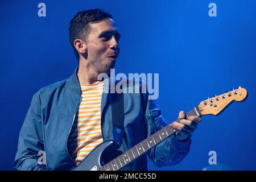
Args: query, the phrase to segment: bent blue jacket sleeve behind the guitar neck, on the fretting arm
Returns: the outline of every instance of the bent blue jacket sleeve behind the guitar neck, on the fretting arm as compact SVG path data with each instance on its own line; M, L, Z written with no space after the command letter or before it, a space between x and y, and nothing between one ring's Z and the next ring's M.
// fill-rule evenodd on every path
M145 121L147 125L147 137L150 137L150 135L166 126L167 123L161 114L159 106L154 100L148 99L148 94L144 94L144 104L146 104ZM171 137L168 137L152 148L148 152L148 157L155 166L174 166L185 158L189 152L190 145L191 138L180 141L176 139L175 135L171 135Z

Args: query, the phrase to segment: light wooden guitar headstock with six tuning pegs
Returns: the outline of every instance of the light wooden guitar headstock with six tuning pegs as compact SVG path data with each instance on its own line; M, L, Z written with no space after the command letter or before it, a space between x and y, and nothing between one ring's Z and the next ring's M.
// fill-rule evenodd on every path
M242 101L246 98L246 96L246 89L239 87L238 89L233 89L230 92L208 98L207 100L200 102L197 108L199 109L201 115L217 115L232 101Z

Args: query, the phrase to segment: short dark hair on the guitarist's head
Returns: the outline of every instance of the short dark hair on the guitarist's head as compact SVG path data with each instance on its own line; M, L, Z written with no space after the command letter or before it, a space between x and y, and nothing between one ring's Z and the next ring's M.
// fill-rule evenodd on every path
M85 10L77 13L69 23L69 41L74 49L76 58L79 60L79 53L77 52L74 41L82 39L86 41L88 32L90 31L89 23L98 22L100 20L111 18L112 15L102 9Z

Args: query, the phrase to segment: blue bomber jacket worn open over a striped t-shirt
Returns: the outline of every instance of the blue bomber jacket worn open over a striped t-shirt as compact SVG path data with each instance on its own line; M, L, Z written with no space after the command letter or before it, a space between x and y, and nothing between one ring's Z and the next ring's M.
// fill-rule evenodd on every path
M14 166L18 170L69 170L75 161L67 143L81 101L77 70L67 80L40 89L32 97L19 134ZM140 83L141 84L141 83ZM105 85L104 85L105 87ZM102 93L101 129L104 141L114 140L112 107L108 93ZM123 94L124 134L119 151L126 151L167 125L158 105L147 93ZM180 141L174 135L157 144L148 157L158 167L179 163L189 152L191 139ZM39 163L40 151L46 163ZM141 156L122 170L147 170L147 157Z

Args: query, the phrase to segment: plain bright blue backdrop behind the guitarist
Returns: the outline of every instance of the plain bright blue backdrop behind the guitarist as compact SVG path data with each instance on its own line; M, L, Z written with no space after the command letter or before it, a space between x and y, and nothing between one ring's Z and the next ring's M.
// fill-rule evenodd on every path
M38 4L46 3L46 17ZM208 5L217 5L209 17ZM68 78L77 60L69 21L77 11L110 11L121 38L116 73L159 73L158 104L168 122L214 94L249 92L223 113L206 115L191 151L176 166L151 170L256 169L256 1L1 1L0 169L14 169L18 135L32 94ZM209 166L209 151L217 165Z

